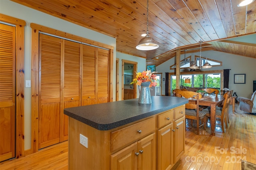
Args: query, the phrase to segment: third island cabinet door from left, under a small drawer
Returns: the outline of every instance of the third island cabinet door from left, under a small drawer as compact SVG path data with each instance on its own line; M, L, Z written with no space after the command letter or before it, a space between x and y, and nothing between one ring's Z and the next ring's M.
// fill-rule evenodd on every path
M170 170L173 158L173 123L157 131L157 169Z

